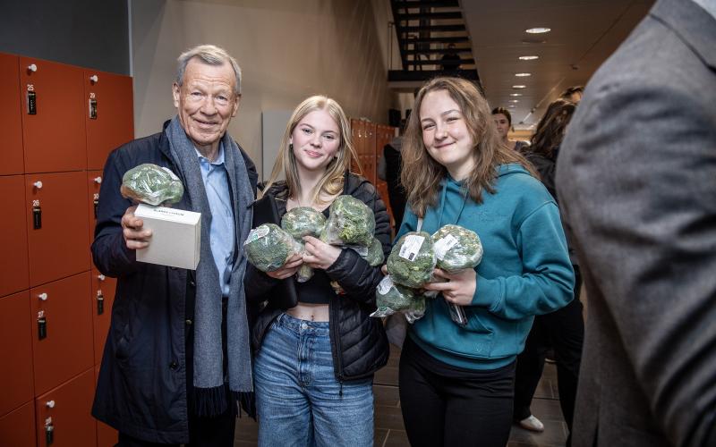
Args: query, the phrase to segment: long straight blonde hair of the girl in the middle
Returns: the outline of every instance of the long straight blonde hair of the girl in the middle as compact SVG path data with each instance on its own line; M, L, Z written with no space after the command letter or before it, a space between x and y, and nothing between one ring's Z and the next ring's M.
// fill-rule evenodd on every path
M324 203L320 196L321 193L332 197L339 194L343 190L343 178L346 170L349 170L355 156L353 143L351 142L351 126L345 117L343 108L329 97L317 95L308 97L299 104L291 119L286 125L286 132L281 139L281 147L278 148L278 156L274 164L271 176L264 187L264 192L270 190L271 186L277 182L278 177L283 174L286 177L286 186L288 187L286 198L297 198L301 194L301 181L298 177L298 168L294 151L290 148L291 135L303 117L317 110L325 110L338 124L340 132L339 146L336 157L326 166L326 173L320 178L316 187L311 191L311 200L314 203Z

